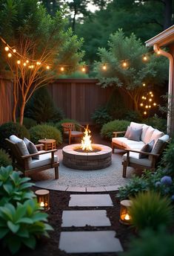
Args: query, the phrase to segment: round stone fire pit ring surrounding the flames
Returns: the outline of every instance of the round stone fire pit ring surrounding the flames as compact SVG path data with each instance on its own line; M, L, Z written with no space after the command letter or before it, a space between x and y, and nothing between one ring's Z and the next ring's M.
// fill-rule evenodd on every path
M110 166L112 159L112 149L101 144L92 144L98 152L78 152L77 148L81 144L72 144L63 147L63 164L66 167L77 170L99 170Z

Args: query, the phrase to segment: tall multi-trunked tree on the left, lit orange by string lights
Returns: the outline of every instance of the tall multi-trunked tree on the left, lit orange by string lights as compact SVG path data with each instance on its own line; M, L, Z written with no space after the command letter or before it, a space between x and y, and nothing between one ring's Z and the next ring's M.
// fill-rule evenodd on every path
M65 29L65 10L52 17L36 0L2 0L0 8L1 74L11 71L13 121L19 106L22 124L24 107L33 92L58 76L62 64L67 72L76 70L84 55L83 40Z

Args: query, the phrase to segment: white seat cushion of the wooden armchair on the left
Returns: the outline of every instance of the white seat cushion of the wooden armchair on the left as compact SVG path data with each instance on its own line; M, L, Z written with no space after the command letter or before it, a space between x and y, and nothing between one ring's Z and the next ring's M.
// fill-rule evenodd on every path
M43 151L42 151L43 152ZM54 162L58 161L58 156L54 155ZM29 163L29 169L34 169L36 167L41 167L51 162L51 153L46 153L39 156L39 160L33 159Z

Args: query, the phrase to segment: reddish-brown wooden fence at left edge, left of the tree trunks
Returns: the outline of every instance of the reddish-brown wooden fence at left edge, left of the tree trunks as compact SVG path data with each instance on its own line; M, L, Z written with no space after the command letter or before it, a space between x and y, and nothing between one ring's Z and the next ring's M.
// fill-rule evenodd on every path
M0 77L0 124L12 121L13 82Z

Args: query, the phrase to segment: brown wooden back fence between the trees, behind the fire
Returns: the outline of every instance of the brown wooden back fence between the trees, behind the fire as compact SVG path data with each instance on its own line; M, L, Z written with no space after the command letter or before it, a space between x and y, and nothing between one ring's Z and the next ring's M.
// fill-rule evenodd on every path
M81 124L92 124L92 113L107 103L111 87L102 89L96 79L59 79L50 84L50 93L56 106L63 109L66 117Z

